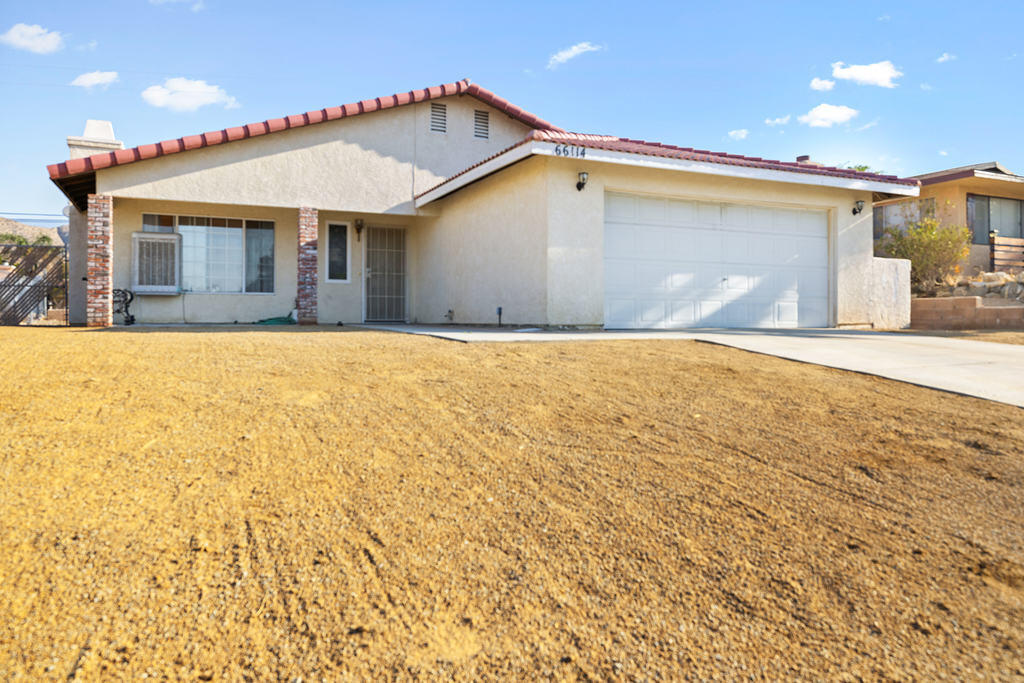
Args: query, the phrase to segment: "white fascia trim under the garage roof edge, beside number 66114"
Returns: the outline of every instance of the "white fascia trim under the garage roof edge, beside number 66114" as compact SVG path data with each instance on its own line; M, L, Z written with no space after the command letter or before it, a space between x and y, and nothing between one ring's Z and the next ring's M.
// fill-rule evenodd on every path
M427 191L416 200L416 208L419 209L445 195L450 195L460 187L479 180L485 175L501 170L502 168L514 164L530 155L545 157L562 158L561 154L555 152L565 144L571 146L572 142L527 142L513 147L504 154L495 157L490 161L480 164L462 175L453 178L433 189ZM802 185L819 185L825 187L840 187L842 189L854 189L859 191L887 193L890 195L904 195L906 197L918 197L921 188L918 185L905 185L895 182L885 182L883 180L865 180L860 178L844 178L840 176L820 175L817 173L798 173L795 171L777 171L765 168L753 168L749 166L733 166L731 164L715 164L710 162L698 162L688 159L668 159L664 157L652 157L650 155L636 154L632 152L610 152L607 150L595 150L585 147L586 157L572 158L575 161L598 162L606 164L618 164L621 166L639 166L643 168L655 168L670 171L685 171L688 173L705 173L709 175L720 175L733 178L748 178L751 180L769 180L775 182L793 182Z

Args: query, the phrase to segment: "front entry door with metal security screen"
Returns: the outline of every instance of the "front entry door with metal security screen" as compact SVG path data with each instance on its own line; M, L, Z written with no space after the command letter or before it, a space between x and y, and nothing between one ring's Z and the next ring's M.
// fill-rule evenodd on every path
M367 322L406 319L406 230L367 228Z

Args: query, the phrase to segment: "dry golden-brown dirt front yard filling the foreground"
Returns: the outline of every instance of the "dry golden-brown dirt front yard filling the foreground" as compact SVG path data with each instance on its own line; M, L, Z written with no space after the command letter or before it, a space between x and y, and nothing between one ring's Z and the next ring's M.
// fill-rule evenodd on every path
M1016 408L692 341L0 351L0 679L1024 676Z

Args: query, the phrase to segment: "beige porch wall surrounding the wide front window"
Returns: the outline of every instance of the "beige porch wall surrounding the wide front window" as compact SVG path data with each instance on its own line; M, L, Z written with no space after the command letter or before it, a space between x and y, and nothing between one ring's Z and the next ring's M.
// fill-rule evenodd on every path
M115 289L131 289L131 236L142 229L143 213L272 220L274 291L273 294L139 295L131 306L131 312L137 322L252 323L265 317L288 315L295 308L299 221L297 209L115 199ZM120 323L120 319L117 322Z

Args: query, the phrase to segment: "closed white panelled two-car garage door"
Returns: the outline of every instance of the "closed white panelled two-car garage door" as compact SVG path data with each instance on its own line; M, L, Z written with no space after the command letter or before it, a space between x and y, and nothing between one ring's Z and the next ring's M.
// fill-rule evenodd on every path
M824 211L608 193L604 325L828 325Z

